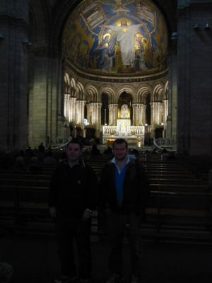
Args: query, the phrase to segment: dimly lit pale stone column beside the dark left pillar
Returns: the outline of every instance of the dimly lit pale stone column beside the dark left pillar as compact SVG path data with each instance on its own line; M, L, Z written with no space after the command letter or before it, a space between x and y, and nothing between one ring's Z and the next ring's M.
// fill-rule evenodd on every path
M58 111L58 99L61 99L61 92L57 92L57 76L53 73L52 83L48 77L49 52L47 47L36 47L34 49L34 85L30 91L30 123L29 143L36 146L41 141L47 146L53 137L63 135L64 109ZM53 60L54 61L54 60ZM52 64L56 63L55 61ZM62 68L61 68L62 69ZM57 119L55 119L57 117Z

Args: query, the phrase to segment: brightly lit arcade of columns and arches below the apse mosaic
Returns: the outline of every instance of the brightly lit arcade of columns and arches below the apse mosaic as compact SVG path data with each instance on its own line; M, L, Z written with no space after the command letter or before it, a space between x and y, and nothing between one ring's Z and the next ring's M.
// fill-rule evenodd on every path
M83 84L79 80L65 74L63 126L66 127L62 129L63 136L69 135L71 125L80 128L84 136L86 129L93 127L96 137L102 134L103 143L110 137L124 137L136 144L140 137L141 144L144 144L146 130L152 137L165 137L168 115L166 76L152 83L91 85L89 81L83 80ZM124 105L129 115L124 115ZM125 123L125 129L117 127L120 121ZM157 129L161 129L158 136Z

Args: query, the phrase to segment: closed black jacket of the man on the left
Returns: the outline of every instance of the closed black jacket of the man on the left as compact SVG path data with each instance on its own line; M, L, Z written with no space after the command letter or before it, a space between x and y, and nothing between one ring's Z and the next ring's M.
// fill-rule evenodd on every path
M83 211L96 209L98 182L93 169L83 160L70 168L63 161L52 175L49 187L49 207L57 214L81 218Z

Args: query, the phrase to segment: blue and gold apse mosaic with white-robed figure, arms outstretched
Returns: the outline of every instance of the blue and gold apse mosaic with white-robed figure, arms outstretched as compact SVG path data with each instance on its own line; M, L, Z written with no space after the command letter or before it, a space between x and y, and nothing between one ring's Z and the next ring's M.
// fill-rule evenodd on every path
M64 29L64 54L95 74L149 74L167 66L167 28L151 0L83 1Z

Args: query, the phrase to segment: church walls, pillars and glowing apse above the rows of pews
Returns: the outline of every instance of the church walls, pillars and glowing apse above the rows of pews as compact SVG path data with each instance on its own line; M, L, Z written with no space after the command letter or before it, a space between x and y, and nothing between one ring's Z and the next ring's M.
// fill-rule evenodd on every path
M77 134L211 155L211 15L212 0L2 1L0 150Z

